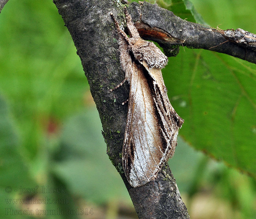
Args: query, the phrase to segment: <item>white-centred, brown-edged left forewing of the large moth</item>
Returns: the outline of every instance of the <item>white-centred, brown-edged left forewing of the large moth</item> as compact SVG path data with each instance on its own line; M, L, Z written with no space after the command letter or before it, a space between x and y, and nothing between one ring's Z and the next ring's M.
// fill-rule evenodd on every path
M162 158L158 121L143 66L134 64L123 145L123 167L129 183L148 183L159 171Z

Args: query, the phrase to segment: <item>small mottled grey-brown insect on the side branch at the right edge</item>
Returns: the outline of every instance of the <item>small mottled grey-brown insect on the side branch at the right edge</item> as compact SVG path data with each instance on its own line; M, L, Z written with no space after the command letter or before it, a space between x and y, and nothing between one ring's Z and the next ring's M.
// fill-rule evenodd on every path
M218 28L216 31L221 33L223 35L223 37L225 37L225 39L227 40L223 43L234 42L241 46L244 46L244 47L247 47L249 49L256 51L256 34L253 34L251 32L245 31L240 28L238 28L236 30L234 30L234 29L221 30ZM214 47L216 47L216 46L214 46ZM211 47L211 48L213 48L213 47Z

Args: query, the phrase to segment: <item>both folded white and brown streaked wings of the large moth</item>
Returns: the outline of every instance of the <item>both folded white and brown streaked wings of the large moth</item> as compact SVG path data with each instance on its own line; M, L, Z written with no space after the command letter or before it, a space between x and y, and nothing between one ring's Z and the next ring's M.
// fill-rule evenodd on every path
M165 122L172 116L163 109L166 104L162 101L166 100L161 98L166 98L167 94L164 96L160 88L152 90L157 81L142 65L133 62L132 68L123 168L132 187L139 187L154 180L163 163L173 154L179 127L172 130L172 122ZM153 98L154 95L157 96Z

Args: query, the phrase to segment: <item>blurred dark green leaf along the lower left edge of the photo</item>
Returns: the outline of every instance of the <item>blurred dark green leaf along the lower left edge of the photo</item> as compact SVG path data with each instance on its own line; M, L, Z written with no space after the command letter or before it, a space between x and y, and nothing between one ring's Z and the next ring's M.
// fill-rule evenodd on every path
M29 169L20 155L19 138L10 116L7 104L0 95L0 215L13 218L12 210L20 210L21 205L7 203L7 200L25 198L19 196L20 188L34 187ZM19 218L26 218L20 215Z

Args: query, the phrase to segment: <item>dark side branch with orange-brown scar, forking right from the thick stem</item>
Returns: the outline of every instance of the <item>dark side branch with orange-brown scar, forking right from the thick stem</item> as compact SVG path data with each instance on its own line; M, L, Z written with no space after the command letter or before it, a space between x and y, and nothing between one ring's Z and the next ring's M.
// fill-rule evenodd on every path
M190 48L225 53L256 64L256 51L232 42L219 45L226 39L219 32L212 31L214 28L182 20L173 12L147 2L132 3L128 11L140 36L159 43L166 50L182 43ZM216 47L209 49L213 46Z

